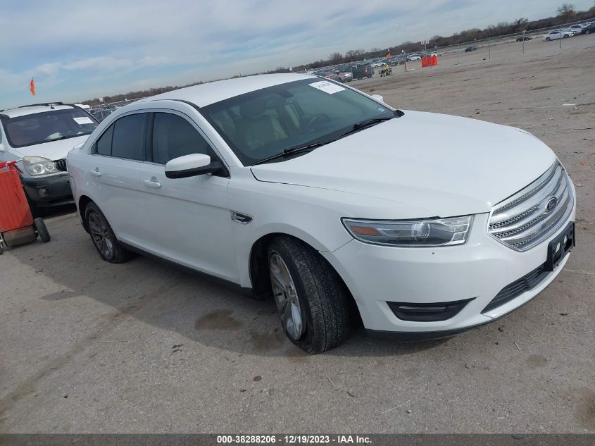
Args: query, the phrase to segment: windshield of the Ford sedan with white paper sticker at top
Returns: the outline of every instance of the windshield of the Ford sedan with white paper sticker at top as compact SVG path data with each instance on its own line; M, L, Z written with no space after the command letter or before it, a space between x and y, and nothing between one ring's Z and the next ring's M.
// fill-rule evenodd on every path
M201 113L244 166L289 147L330 140L363 121L395 116L363 94L315 78L241 94Z

